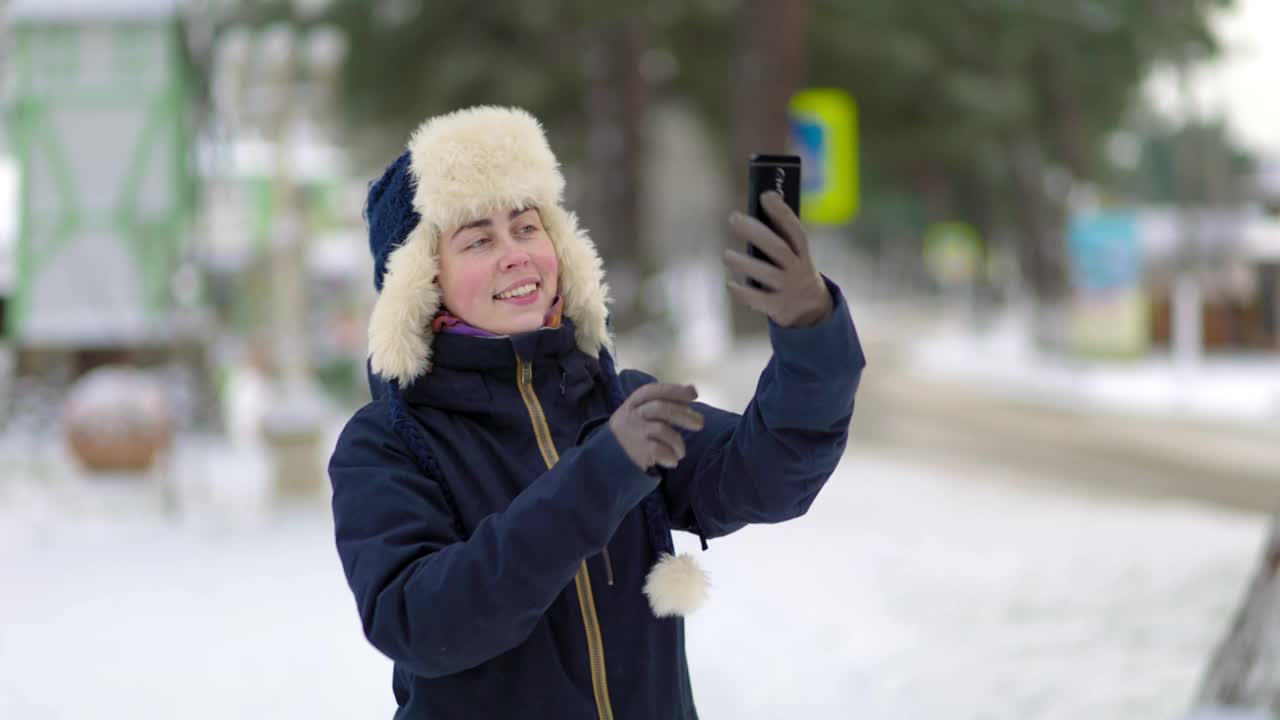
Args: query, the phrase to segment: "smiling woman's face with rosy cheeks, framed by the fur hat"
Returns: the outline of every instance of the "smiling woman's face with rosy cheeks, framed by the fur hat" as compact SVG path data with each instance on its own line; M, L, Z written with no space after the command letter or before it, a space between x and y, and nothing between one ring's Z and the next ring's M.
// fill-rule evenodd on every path
M543 327L558 277L556 249L534 208L499 210L440 234L436 282L444 306L483 331Z

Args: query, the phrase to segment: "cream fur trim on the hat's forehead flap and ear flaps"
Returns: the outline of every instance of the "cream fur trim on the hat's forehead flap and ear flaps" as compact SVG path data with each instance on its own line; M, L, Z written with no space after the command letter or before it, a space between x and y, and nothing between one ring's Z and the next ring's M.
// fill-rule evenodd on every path
M539 209L556 246L559 293L577 346L591 357L602 347L612 352L600 256L577 218L561 206L564 178L538 120L507 108L458 110L422 123L408 149L413 206L422 220L387 258L383 291L369 319L374 373L404 387L430 372L440 232L515 206Z

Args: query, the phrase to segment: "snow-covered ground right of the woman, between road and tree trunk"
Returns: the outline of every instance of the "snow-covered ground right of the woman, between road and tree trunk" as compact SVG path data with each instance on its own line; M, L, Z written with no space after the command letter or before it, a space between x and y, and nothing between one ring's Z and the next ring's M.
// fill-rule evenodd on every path
M708 717L1178 717L1261 537L855 448L808 516L707 555L695 687Z

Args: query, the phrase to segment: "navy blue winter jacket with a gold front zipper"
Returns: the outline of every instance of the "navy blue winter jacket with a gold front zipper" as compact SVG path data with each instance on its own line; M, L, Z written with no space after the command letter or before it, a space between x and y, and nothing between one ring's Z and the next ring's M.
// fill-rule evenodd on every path
M671 527L704 542L809 509L845 448L864 366L827 284L829 318L769 324L773 357L745 413L695 404L705 427L653 475L604 420L654 378L588 356L570 320L438 334L430 373L375 388L329 474L365 634L394 661L396 717L698 716L684 620L655 618L641 593L669 552L644 501L657 493Z

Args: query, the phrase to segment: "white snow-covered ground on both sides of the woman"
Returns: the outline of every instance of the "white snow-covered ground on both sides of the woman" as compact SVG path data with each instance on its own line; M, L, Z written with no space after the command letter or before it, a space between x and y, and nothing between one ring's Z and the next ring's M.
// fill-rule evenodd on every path
M323 501L262 514L253 482L192 489L264 468L186 438L173 466L201 500L172 515L156 491L67 479L42 447L0 461L0 717L392 715ZM1015 489L855 446L808 516L703 556L699 708L1175 719L1262 532L1257 516Z

